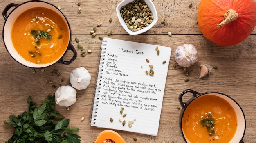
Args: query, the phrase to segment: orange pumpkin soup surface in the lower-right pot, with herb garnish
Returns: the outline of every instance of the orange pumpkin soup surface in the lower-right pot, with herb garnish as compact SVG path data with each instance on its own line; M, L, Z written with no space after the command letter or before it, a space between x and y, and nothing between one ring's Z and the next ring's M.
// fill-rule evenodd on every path
M182 118L184 136L191 143L229 143L236 129L234 109L215 95L202 95L193 100Z

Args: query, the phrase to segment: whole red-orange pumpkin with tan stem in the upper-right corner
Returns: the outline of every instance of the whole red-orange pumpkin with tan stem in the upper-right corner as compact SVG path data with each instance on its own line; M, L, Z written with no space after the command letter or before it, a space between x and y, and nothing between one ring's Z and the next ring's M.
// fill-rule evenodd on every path
M201 0L198 26L205 38L221 46L245 40L256 25L254 0Z

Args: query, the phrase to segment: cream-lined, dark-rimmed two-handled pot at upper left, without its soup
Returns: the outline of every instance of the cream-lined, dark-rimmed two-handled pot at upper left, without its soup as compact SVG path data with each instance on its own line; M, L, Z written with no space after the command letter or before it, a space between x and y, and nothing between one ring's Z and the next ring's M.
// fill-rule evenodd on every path
M47 64L36 64L36 63L26 61L24 58L22 58L20 56L20 54L18 54L18 52L16 52L16 50L14 50L14 47L11 42L11 32L10 31L11 31L12 24L13 24L14 20L16 19L16 17L18 17L18 15L20 15L20 13L22 13L23 11L25 11L27 9L30 9L33 7L40 7L40 6L52 8L63 18L63 20L66 22L67 27L69 29L69 37L70 37L67 49L65 50L65 52L63 52L62 56L60 56L57 60L55 60L51 63L47 63ZM14 7L13 10L11 10L9 15L6 15L7 11L11 7ZM8 53L11 55L11 57L14 60L16 60L18 63L20 63L21 65L24 65L26 67L41 68L41 67L48 67L50 65L53 65L54 63L70 64L76 59L77 53L76 53L74 46L71 44L72 33L71 33L70 24L69 24L67 18L65 17L65 15L62 13L62 11L59 10L53 4L51 4L49 2L41 1L41 0L31 0L31 1L23 2L21 4L10 3L5 7L2 15L5 19L4 26L3 26L3 35L2 35L5 48L7 49ZM5 33L7 33L7 34L5 34ZM73 57L69 61L64 61L63 56L65 56L65 54L67 53L68 50L71 50L73 52Z

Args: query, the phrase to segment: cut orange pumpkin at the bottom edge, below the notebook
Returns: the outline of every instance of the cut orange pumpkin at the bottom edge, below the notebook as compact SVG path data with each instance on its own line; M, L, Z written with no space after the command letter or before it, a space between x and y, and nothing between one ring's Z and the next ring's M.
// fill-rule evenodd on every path
M112 143L126 143L126 141L115 131L113 130L103 130L99 133L93 143L103 143L108 140Z

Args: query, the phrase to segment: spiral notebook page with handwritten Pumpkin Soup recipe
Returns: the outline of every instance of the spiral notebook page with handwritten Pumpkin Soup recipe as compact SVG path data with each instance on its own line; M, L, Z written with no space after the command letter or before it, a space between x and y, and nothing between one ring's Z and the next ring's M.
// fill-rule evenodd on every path
M171 48L104 38L91 126L157 136Z

